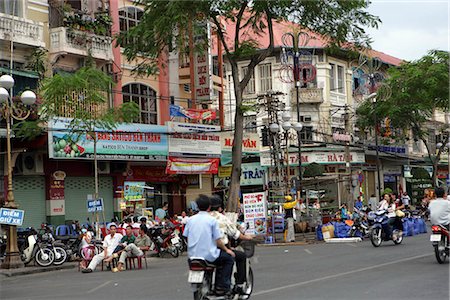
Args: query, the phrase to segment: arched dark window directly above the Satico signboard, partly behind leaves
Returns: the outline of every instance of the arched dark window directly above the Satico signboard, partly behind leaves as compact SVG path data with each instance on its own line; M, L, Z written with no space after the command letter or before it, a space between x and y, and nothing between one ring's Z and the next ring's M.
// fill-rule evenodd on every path
M131 83L122 87L123 102L133 101L140 108L139 123L158 124L156 91L140 84Z

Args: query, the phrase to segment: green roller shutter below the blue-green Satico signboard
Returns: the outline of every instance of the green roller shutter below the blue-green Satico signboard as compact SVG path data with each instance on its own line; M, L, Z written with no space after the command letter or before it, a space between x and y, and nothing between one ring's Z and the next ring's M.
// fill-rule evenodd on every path
M87 195L93 194L93 177L66 177L64 181L64 195L66 199L66 220L79 220L80 223L86 222L89 217L92 220L92 214L87 212ZM113 217L113 182L111 177L99 178L99 196L103 198L105 206L106 221L109 222ZM99 220L102 221L102 215Z

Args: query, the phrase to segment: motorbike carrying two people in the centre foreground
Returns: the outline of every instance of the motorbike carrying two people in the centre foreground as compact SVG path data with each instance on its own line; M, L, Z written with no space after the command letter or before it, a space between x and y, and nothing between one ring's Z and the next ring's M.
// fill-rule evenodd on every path
M191 284L194 293L194 300L202 299L249 299L253 292L253 270L250 264L250 258L255 253L255 243L251 241L241 242L236 247L237 250L243 251L247 257L246 281L244 288L239 290L236 288L237 268L233 266L231 276L231 293L225 296L218 296L214 293L215 278L217 267L204 260L203 258L191 258L188 260L189 276L188 283Z

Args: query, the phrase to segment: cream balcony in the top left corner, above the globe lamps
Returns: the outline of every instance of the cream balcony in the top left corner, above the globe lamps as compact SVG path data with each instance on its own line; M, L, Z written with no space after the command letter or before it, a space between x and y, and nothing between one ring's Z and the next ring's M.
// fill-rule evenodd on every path
M44 24L0 13L0 40L33 47L45 47Z

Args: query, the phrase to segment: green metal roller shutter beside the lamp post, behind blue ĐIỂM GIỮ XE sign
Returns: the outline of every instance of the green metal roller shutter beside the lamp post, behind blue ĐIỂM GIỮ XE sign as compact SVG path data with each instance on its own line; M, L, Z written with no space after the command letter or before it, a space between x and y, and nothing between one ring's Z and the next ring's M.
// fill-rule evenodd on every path
M13 178L14 199L25 211L22 227L41 228L46 222L44 176Z

